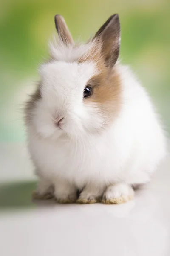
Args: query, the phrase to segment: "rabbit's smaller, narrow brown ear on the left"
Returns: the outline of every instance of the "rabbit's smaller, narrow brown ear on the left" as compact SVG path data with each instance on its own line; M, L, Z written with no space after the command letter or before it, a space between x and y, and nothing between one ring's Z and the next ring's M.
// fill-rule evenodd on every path
M73 38L70 31L65 23L64 18L57 14L55 15L55 25L59 35L59 38L63 41L64 44L74 44Z

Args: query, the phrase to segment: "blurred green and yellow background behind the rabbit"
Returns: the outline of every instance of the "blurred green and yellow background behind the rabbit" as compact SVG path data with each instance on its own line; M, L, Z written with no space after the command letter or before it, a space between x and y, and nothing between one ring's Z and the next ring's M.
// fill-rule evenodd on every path
M39 79L61 14L74 39L87 40L113 13L122 28L120 59L147 88L170 131L170 5L165 0L1 0L0 142L24 142L22 105Z

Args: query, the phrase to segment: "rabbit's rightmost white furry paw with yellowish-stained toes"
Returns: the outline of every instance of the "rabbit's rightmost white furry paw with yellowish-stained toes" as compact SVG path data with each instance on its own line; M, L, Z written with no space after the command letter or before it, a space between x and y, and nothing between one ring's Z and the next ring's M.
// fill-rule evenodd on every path
M107 187L102 203L104 204L122 204L134 198L134 191L131 186L123 183L110 185Z

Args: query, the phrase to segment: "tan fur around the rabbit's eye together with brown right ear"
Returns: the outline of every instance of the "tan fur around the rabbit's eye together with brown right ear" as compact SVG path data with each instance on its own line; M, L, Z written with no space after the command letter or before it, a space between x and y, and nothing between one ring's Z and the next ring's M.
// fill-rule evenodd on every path
M96 63L98 74L92 77L87 86L92 87L93 94L84 101L94 102L109 124L119 113L121 105L121 78L115 63L120 48L119 15L112 15L96 32L90 43L93 47L79 59L81 62Z

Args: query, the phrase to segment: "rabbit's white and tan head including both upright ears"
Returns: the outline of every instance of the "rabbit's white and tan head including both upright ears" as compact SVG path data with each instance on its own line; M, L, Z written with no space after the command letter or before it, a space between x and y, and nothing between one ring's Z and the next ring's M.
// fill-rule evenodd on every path
M55 16L55 24L59 39L50 44L50 61L40 67L27 117L42 137L100 133L121 103L119 16L112 15L87 44L74 43L62 16Z

